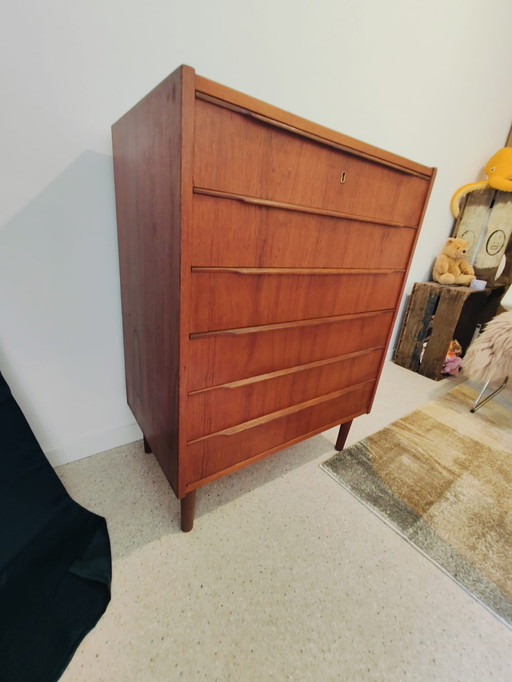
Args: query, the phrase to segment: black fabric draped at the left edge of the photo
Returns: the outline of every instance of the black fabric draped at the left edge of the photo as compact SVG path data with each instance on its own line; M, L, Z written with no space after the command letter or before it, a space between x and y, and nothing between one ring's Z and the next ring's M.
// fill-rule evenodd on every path
M66 492L0 374L0 679L58 680L110 601L104 518Z

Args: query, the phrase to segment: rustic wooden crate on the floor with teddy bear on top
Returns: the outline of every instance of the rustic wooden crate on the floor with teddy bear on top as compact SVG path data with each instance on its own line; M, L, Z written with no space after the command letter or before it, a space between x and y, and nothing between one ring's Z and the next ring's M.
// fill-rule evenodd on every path
M442 379L452 339L466 351L489 290L417 282L412 290L394 362L430 379Z

